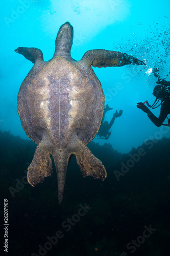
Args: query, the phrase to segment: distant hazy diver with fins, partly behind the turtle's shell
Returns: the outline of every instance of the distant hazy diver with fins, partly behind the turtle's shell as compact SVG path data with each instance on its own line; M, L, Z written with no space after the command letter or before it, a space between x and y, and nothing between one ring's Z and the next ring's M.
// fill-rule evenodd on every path
M111 135L111 132L109 132L109 130L111 129L111 126L113 125L114 123L114 120L115 118L119 117L119 116L122 116L122 113L123 111L120 110L119 113L116 112L113 114L113 117L110 121L110 123L108 121L105 121L104 122L104 118L105 118L105 114L109 111L109 110L112 110L113 108L109 108L109 105L107 104L106 105L106 108L104 110L104 114L103 114L103 119L102 119L102 123L101 123L101 127L99 129L99 132L97 134L97 137L99 136L100 138L101 137L105 137L105 138L101 138L101 139L105 139L105 140L108 140L108 138L110 137Z

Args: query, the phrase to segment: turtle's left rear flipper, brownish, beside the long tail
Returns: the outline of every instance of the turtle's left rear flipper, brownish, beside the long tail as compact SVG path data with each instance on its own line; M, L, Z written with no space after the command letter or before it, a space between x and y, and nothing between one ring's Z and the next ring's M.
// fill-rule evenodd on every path
M28 167L27 179L28 182L35 186L39 182L43 182L47 176L52 176L53 167L50 158L50 152L46 145L40 143L35 151L34 158Z

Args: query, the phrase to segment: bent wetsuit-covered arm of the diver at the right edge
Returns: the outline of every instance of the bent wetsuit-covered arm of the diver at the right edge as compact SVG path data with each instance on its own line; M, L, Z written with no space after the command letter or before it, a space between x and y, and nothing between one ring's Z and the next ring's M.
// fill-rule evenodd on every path
M166 99L163 101L159 117L154 116L151 111L148 112L148 117L156 126L159 127L162 125L168 114L170 114L170 99Z

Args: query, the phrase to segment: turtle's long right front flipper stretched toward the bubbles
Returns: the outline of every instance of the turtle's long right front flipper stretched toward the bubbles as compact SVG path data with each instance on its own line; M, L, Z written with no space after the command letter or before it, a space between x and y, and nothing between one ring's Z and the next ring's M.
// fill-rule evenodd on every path
M106 67L122 67L124 65L146 65L141 61L126 53L107 51L107 50L90 50L87 51L80 62L85 62L88 65L98 68Z

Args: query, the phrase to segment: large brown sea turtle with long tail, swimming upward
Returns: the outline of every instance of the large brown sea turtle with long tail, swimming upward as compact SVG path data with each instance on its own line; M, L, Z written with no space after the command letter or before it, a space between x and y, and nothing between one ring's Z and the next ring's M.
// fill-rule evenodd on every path
M144 65L125 53L107 50L87 51L77 61L70 55L72 39L73 28L66 22L58 31L52 59L44 61L37 48L15 50L34 63L17 98L22 127L37 143L28 167L28 181L35 186L52 176L52 156L57 169L59 203L72 155L76 155L84 177L106 178L104 165L86 146L99 131L105 101L101 83L91 66Z

